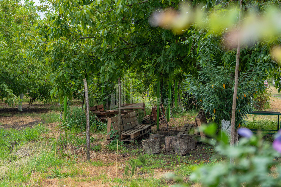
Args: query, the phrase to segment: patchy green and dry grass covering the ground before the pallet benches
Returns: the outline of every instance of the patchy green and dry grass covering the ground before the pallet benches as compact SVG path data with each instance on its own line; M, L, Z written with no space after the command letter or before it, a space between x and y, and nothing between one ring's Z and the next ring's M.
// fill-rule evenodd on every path
M46 113L17 114L14 118L39 118L48 124L59 122L57 115L59 111L54 108ZM180 120L191 120L196 115L196 111L178 114ZM77 116L76 120L79 118ZM78 127L66 130L62 126L56 129L51 126L51 130L47 130L44 125L21 130L0 129L0 186L81 186L82 183L90 186L170 186L174 182L162 177L167 171L186 177L196 165L190 157L181 156L180 167L177 167L179 161L173 154L144 154L142 157L146 164L143 164L138 159L142 152L139 145L121 143L118 147L116 178L117 145L106 144L106 126L91 126L91 161L86 162L84 130ZM101 130L97 130L98 125ZM137 169L132 178L125 178L124 167L129 159L135 161ZM51 184L48 183L50 181Z

